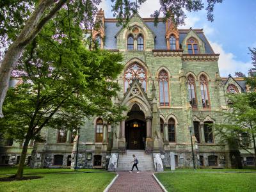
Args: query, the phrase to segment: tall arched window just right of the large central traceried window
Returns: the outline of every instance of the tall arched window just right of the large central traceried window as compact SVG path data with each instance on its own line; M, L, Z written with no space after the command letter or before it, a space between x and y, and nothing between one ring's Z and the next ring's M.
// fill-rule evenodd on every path
M159 72L158 79L160 106L169 106L168 73L165 70L161 70L161 72Z

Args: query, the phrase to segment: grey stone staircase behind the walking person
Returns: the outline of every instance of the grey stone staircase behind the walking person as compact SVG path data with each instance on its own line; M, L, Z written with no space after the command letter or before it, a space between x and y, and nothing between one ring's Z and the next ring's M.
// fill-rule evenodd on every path
M154 171L152 154L145 154L145 150L126 150L126 154L119 154L117 171L129 171L132 169L132 155L139 160L138 168L140 171ZM137 170L134 167L133 170Z

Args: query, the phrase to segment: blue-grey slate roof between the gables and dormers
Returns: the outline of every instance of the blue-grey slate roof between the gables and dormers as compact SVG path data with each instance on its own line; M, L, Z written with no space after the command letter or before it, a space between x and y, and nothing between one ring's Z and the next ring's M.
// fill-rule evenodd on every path
M150 19L143 19L148 28L150 28L155 34L155 48L154 49L167 49L165 32L166 24L163 21L160 21L157 26L154 26L154 21ZM106 19L105 22L105 46L104 49L116 49L116 38L115 35L122 29L122 26L116 26L115 20ZM180 38L179 44L182 43L186 35L188 34L189 29L180 29ZM211 48L207 38L204 35L202 29L195 29L195 33L201 38L205 43L205 53L214 54L214 51Z

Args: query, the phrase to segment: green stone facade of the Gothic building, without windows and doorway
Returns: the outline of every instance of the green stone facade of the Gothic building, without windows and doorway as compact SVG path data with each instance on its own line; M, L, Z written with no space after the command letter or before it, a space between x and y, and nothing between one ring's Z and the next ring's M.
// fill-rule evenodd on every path
M104 15L103 26L106 45L104 49L108 49L108 25L115 23L115 20L105 19ZM147 129L147 138L145 138L145 152L148 154L163 154L162 159L164 166L170 166L170 152L175 152L175 163L179 167L193 166L191 153L191 137L189 127L193 127L193 122L199 123L200 141L196 140L192 131L193 148L195 151L196 166L209 166L209 156L216 157L217 167L230 167L230 151L227 145L221 145L219 138L214 135L213 142L205 143L204 124L212 122L218 124L223 121L222 112L227 110L227 101L225 93L229 83L235 84L239 92L243 92L241 86L237 82L229 78L223 81L219 75L218 54L215 54L211 45L204 36L204 32L199 29L176 29L179 31L179 46L176 50L159 49L157 38L161 34L156 34L156 28L152 27L153 20L142 19L140 15L132 15L129 22L130 28L119 28L118 33L114 34L115 47L109 51L121 52L124 56L124 72L118 77L118 83L121 90L118 93L118 98L113 99L116 105L127 106L128 111L124 112L127 115L132 110L134 104L139 106L144 114L145 129ZM170 22L170 21L168 21ZM150 27L149 27L150 26ZM160 27L168 26L165 22ZM144 38L144 50L138 51L127 50L127 36L134 34L136 47L136 31ZM154 28L154 30L152 29ZM132 31L134 29L134 31ZM164 33L168 30L163 29ZM162 30L162 31L163 31ZM172 30L172 28L171 28ZM110 31L109 31L110 33ZM200 34L200 35L198 35ZM187 42L189 38L195 38L198 42L199 54L188 54ZM167 44L166 37L162 44ZM166 45L164 45L166 47ZM129 86L127 92L124 92L124 74L125 70L133 63L137 63L147 73L147 90L143 90L140 81L134 79ZM159 72L165 70L168 74L168 92L170 98L169 106L161 106L159 102ZM197 108L192 108L189 104L188 92L188 76L191 74L195 78L196 102ZM204 74L207 77L209 88L209 108L203 108L202 96L200 93L200 76ZM228 82L228 83L227 83ZM136 93L134 92L136 89ZM138 92L137 92L138 91ZM135 116L136 113L134 112ZM125 153L127 150L127 138L125 132L126 122L118 122L111 124L108 129L108 124L103 124L103 140L95 142L95 127L97 118L93 117L86 120L86 123L81 127L79 137L79 155L78 165L80 168L92 167L108 167L109 156L111 154ZM164 122L164 129L161 132L160 118ZM168 141L168 121L172 118L175 121L175 142ZM55 166L72 166L74 167L76 160L76 143L70 143L70 132L67 133L67 141L58 143L58 131L51 128L45 128L41 131L46 143L35 143L32 151L31 166L33 167L55 167ZM7 150L5 154L17 152L15 148ZM19 153L17 153L19 154ZM31 152L29 152L31 154ZM56 165L54 156L62 155L63 164ZM30 155L28 155L30 156ZM248 153L242 152L242 156L248 156ZM100 161L95 163L95 159L100 157ZM200 162L201 159L201 162ZM212 160L211 160L212 161ZM99 164L100 162L100 164ZM211 165L211 164L210 164Z

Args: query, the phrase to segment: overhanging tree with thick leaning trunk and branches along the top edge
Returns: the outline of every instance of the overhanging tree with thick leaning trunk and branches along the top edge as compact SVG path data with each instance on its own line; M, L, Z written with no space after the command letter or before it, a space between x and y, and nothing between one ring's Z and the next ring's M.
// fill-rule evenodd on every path
M138 0L138 4L145 3L146 0ZM0 118L3 117L2 108L8 83L13 68L26 46L42 30L44 25L54 17L54 15L65 5L68 12L76 13L74 19L84 28L93 26L93 19L97 12L97 5L101 0L5 0L0 2L0 36L5 40L3 45L9 42L10 45L4 54L0 67ZM113 3L113 14L120 24L127 24L131 13L138 10L139 5L131 0L111 0ZM222 0L207 1L207 18L213 20L214 4L221 3ZM202 0L159 0L160 10L156 11L152 17L157 19L161 12L168 18L173 14L177 24L184 24L186 14L189 12L202 10L204 3ZM2 46L3 46L2 45ZM3 54L2 54L3 55Z

